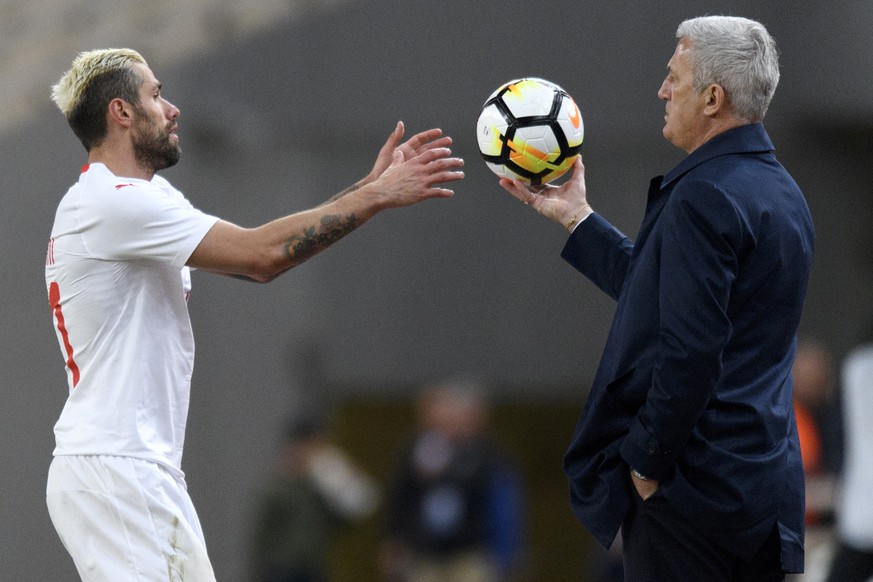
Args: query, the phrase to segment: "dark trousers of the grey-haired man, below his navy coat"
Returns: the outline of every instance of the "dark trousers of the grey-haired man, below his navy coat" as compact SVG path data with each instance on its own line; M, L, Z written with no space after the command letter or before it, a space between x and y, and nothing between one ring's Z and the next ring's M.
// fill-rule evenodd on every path
M781 542L773 533L746 562L701 535L660 493L634 503L621 528L626 582L781 582Z

